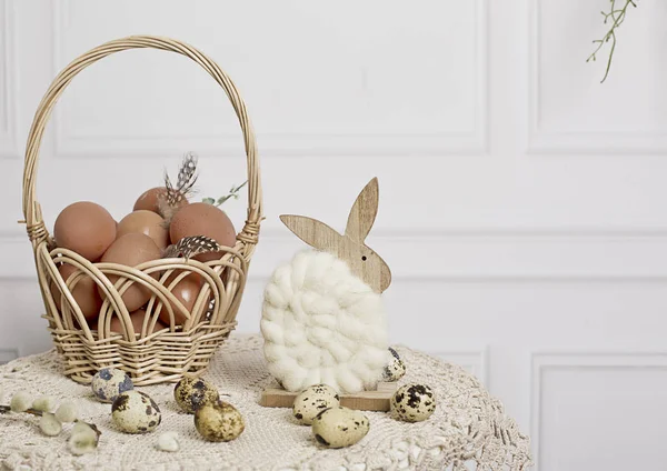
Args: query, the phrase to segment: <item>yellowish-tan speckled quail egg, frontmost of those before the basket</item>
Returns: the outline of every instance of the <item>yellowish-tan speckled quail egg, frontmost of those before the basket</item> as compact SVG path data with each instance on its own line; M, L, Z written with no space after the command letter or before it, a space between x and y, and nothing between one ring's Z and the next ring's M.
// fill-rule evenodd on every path
M237 408L217 401L195 411L195 428L208 441L231 441L243 432L246 424Z

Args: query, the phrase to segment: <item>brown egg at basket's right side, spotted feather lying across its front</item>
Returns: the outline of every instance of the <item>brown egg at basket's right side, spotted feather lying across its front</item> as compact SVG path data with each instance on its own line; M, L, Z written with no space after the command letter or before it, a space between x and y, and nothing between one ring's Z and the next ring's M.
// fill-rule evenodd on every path
M210 237L223 247L233 247L236 244L233 224L225 211L213 204L191 203L181 208L176 213L169 227L171 243L191 236ZM195 257L195 259L202 262L219 258L220 253L202 253Z

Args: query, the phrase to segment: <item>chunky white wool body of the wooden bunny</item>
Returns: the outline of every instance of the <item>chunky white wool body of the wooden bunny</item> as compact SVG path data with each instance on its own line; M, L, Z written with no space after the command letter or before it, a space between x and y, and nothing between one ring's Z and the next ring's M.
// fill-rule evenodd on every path
M276 269L261 333L269 371L288 391L318 383L342 393L372 389L387 364L380 294L327 252L307 250Z

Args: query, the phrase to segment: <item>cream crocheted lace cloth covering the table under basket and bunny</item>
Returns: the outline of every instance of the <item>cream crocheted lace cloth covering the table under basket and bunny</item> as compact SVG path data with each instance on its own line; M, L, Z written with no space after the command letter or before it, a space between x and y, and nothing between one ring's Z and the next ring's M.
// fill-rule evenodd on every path
M290 409L258 404L261 391L273 384L261 353L259 335L235 335L211 360L205 378L215 383L223 400L243 414L246 431L229 443L209 443L195 430L192 415L179 411L173 385L140 390L162 411L153 433L117 432L111 407L92 399L90 389L62 375L58 354L26 357L0 367L2 403L19 390L50 394L59 402L74 399L80 417L102 431L98 451L82 457L67 449L69 427L54 438L44 437L37 418L0 415L0 463L9 469L86 470L525 470L531 464L529 439L505 414L499 401L459 367L397 347L407 365L402 382L424 382L437 395L437 409L426 422L405 423L382 412L366 412L370 431L359 443L340 450L318 447L309 427L298 425ZM156 448L162 432L177 431L180 450Z

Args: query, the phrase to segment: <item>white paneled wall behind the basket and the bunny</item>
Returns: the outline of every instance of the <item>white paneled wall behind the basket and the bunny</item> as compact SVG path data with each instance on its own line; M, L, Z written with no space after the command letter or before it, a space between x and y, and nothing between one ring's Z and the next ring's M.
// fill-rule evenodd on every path
M659 469L667 420L667 3L640 0L615 64L585 63L607 0L0 0L0 360L50 340L16 223L22 152L58 70L131 33L186 40L232 77L261 154L267 220L239 312L301 248L277 216L342 229L380 181L369 245L389 263L391 337L480 377L540 471ZM78 77L44 140L49 228L76 200L120 219L201 161L200 196L243 177L223 92L158 51ZM245 200L228 210L240 227Z

